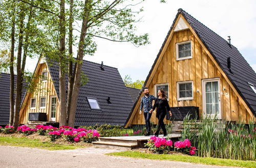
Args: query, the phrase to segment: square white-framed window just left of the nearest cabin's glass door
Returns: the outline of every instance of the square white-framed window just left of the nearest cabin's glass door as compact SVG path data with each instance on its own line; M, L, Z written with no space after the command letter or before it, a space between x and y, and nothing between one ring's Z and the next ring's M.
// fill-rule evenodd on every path
M193 81L177 82L177 100L193 99Z

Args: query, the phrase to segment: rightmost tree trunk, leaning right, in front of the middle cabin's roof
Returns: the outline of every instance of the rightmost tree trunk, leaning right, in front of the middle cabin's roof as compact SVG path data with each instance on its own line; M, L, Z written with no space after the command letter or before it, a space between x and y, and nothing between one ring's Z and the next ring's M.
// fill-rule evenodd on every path
M87 34L87 23L88 23L88 13L89 13L89 3L90 1L84 2L84 11L83 11L83 21L82 21L82 28L81 28L81 35L79 39L78 45L78 52L77 52L77 60L79 63L76 62L75 69L74 69L74 85L73 85L73 93L72 93L72 101L70 105L70 113L69 113L69 126L73 127L75 122L75 114L76 114L76 106L77 106L77 98L78 98L78 91L80 87L80 78L81 78L81 71L82 71L82 58L83 58L83 48L84 48L84 39Z

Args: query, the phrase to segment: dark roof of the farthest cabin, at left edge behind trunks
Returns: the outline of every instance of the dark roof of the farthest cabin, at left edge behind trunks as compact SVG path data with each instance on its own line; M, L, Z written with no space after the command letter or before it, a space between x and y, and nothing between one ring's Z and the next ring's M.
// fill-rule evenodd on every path
M25 83L25 86L27 83ZM14 88L16 86L16 75L14 75ZM26 93L23 89L22 100ZM15 93L14 93L15 97ZM7 125L10 118L10 74L0 73L0 125Z

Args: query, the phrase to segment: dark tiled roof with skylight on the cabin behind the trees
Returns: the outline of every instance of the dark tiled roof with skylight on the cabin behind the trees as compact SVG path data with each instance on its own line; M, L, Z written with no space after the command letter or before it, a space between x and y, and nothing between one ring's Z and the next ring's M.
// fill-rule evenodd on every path
M59 97L58 64L48 63L48 67ZM104 70L101 70L100 64L83 60L82 71L89 81L79 89L75 125L124 125L133 101L117 68L104 65ZM101 109L91 109L87 97L97 98Z

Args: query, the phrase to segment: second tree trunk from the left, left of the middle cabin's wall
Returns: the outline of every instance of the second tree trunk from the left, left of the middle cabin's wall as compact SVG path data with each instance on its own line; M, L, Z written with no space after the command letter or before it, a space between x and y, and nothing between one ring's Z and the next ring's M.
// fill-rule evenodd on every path
M22 7L24 10L24 6ZM19 110L20 110L20 100L22 98L22 47L23 47L23 33L24 33L24 19L25 12L21 12L19 16L19 37L18 37L18 53L17 53L17 76L16 76L16 96L15 96L15 111L14 111L14 128L18 127L19 124Z

